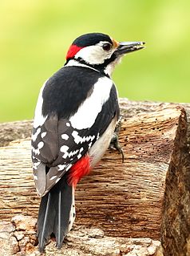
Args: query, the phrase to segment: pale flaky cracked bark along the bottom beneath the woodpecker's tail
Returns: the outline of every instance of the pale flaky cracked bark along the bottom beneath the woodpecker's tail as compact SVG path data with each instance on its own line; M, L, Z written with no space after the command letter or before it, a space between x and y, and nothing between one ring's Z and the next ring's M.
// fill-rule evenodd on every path
M3 256L38 256L36 219L18 215L0 224L0 254ZM46 256L162 256L159 241L150 238L110 238L99 229L74 226L61 250L51 240Z

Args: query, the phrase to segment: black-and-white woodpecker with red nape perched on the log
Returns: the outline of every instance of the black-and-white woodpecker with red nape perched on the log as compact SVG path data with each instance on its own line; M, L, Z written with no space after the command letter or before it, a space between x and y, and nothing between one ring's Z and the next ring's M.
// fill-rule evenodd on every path
M60 248L73 226L77 182L100 161L119 117L110 75L123 55L143 45L118 43L101 33L81 35L69 47L64 67L42 86L32 134L34 181L42 197L40 251L52 233Z

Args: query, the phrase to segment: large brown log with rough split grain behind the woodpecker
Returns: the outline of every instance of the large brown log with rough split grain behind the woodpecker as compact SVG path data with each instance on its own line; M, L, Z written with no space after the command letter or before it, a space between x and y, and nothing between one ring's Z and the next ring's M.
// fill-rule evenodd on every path
M160 240L167 256L190 255L190 127L186 118L190 105L125 99L120 104L125 162L108 150L81 180L75 223L99 228L113 238ZM31 121L1 125L9 135L2 144L11 140L11 133L14 141L0 148L0 219L10 221L20 213L37 217L39 197L32 179L30 138L26 138Z

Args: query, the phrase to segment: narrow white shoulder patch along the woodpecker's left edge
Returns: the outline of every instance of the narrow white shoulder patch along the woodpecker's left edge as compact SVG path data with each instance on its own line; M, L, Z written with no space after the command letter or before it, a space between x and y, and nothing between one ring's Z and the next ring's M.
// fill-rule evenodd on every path
M48 80L46 80L47 82ZM42 126L46 120L46 116L42 115L42 105L43 105L43 98L42 93L43 89L46 86L46 82L43 84L42 88L40 89L40 93L38 95L38 102L35 109L35 116L34 116L34 128L38 128L38 126Z

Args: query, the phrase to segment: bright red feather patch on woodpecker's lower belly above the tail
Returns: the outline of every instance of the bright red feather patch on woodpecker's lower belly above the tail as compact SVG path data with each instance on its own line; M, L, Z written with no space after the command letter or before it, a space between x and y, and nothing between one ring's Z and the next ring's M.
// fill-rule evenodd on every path
M68 184L76 188L77 182L81 177L88 175L90 171L89 156L82 156L71 169L69 169Z

